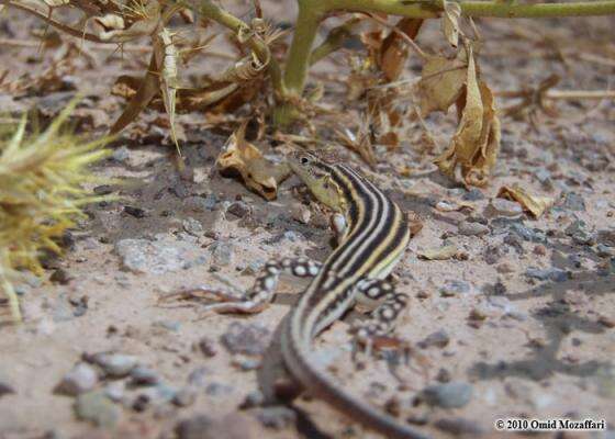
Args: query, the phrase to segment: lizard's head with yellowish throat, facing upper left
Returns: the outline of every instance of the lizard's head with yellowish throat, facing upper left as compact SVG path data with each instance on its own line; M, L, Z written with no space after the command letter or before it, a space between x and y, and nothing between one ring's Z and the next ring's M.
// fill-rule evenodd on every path
M344 198L334 179L334 166L306 151L292 151L287 156L287 161L321 203L335 211L343 211Z

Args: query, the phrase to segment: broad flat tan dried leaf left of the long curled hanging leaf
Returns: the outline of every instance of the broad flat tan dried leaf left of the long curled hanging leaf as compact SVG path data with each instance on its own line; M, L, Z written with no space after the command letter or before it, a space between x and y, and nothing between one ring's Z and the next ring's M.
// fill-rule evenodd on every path
M454 59L443 56L431 56L427 59L417 85L422 116L434 111L447 112L463 90L467 68L463 50L459 50Z

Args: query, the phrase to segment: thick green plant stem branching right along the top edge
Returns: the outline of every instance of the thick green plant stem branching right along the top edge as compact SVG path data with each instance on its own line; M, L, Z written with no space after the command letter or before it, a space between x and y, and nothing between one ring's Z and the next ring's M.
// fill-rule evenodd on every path
M287 98L300 97L311 59L312 44L318 23L334 11L382 12L416 19L437 18L441 0L298 0L299 15L284 71ZM459 3L466 16L549 18L607 15L615 13L615 0L571 3L519 4L501 1L463 1ZM292 104L283 102L275 113L275 122L287 125L292 121Z

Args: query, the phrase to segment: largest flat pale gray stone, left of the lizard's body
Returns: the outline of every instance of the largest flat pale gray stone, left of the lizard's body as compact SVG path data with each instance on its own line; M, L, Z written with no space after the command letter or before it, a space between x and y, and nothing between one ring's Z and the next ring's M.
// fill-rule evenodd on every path
M115 252L124 268L137 273L163 274L178 271L188 262L189 252L201 249L192 243L148 239L122 239L115 244Z

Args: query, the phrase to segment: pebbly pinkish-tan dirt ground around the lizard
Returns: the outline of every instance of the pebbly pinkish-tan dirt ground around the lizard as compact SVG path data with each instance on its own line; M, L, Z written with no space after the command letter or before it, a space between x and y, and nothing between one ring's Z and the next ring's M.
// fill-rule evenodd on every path
M228 3L238 14L248 10ZM264 2L264 9L280 22L294 13L287 2ZM607 89L615 72L613 25L613 19L483 20L483 77L494 90L536 86L550 74L562 78L558 89ZM13 42L35 42L32 32L43 27L14 11L0 18L0 33ZM433 52L444 47L437 22L418 43ZM88 57L75 60L64 86L0 94L2 110L34 106L44 119L80 91L77 130L103 132L123 105L109 95L114 78L142 71L147 53L85 47ZM35 77L55 54L7 44L0 65L15 77ZM323 80L325 102L342 110L347 60L331 58L314 67L312 80L342 78ZM224 63L201 57L191 71ZM418 66L411 59L405 76L416 79ZM350 102L346 111L360 105ZM604 419L611 429L537 437L615 435L615 103L567 100L556 108L557 116L538 111L535 126L503 119L502 150L483 190L467 191L435 170L438 150L429 150L416 121L399 148L379 150L376 171L340 153L423 222L394 271L398 289L411 296L396 335L414 353L409 364L395 356L354 361L348 328L364 317L351 313L318 338L315 361L357 397L433 437L508 437L494 429L506 418ZM332 233L314 203L308 224L298 221L302 198L291 190L298 180L287 180L278 199L266 202L221 177L214 160L228 133L210 130L200 114L179 117L193 171L182 178L163 140L166 131L148 125L157 116L148 111L139 122L147 135L136 142L128 131L97 168L126 179L123 187L99 188L122 200L88 206L66 257L49 260L44 279L20 286L25 322L0 327L0 438L376 437L317 399L275 397L289 380L279 325L304 282L283 278L275 303L249 316L204 314L202 302L165 300L185 288L221 285L221 278L249 288L269 258L323 260ZM426 123L444 147L455 116ZM410 177L400 172L404 166ZM555 205L533 219L518 204L494 201L513 183L551 196ZM466 207L447 207L459 204ZM420 257L447 245L456 258Z

